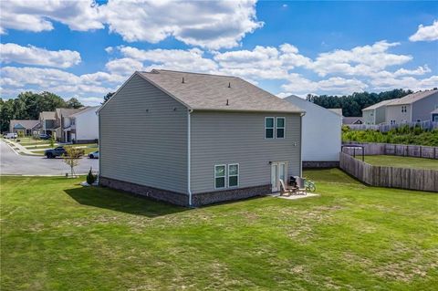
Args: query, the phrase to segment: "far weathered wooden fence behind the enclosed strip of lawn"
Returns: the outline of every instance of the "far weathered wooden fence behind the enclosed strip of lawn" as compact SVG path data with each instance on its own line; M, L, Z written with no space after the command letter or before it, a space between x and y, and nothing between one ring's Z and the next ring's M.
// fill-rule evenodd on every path
M377 143L377 142L357 142L349 141L344 142L344 145L348 144L360 144L363 146L365 155L394 155L394 156L404 156L404 157L415 157L415 158L427 158L427 159L438 159L438 147L426 147L419 145L409 145L409 144L392 144L392 143ZM349 155L353 154L354 149L344 148L344 152ZM356 154L361 153L361 150L356 150Z

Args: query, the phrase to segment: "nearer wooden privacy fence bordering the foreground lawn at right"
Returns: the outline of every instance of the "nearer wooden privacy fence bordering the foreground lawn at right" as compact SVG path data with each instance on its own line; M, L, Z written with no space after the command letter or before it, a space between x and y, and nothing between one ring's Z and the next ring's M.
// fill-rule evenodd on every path
M339 167L372 186L438 192L438 171L374 166L340 153Z

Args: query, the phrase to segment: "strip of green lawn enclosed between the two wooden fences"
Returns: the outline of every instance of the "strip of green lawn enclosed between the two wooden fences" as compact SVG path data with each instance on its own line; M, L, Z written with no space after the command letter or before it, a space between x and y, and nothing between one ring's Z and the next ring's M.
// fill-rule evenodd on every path
M361 160L362 157L357 155L356 159ZM365 161L376 166L438 170L438 160L433 159L376 155L365 156Z

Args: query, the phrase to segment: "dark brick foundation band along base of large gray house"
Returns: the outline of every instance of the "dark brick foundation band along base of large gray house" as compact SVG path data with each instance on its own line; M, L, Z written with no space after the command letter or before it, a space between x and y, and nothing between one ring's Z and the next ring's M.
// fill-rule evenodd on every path
M167 203L181 206L189 206L189 195L152 188L149 186L139 185L131 182L123 182L116 179L99 177L99 185L109 187L125 192L130 192L142 197L148 197ZM192 195L192 205L203 206L213 203L222 203L225 201L241 200L254 196L262 196L271 192L271 185L262 185L248 188L229 189L216 192L197 193Z

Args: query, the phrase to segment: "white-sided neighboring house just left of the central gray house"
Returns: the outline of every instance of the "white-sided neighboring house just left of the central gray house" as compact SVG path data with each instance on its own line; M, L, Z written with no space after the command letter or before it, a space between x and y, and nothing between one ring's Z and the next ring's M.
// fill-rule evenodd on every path
M70 126L65 132L70 132L70 139L76 143L95 142L99 139L99 106L89 107L69 116Z

